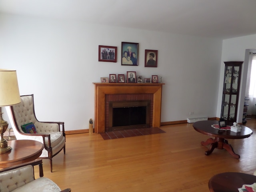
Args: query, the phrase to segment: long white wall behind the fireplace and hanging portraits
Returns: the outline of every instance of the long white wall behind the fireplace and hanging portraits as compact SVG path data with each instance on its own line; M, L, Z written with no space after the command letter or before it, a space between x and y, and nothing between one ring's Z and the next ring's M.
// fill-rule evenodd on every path
M121 66L121 42L139 43L139 66ZM118 62L98 62L98 45L117 46ZM144 67L145 49L158 50L157 68ZM161 122L215 117L221 51L220 39L0 15L0 68L17 70L20 94L34 93L39 120L64 121L66 130L94 119L92 82L127 71L162 77Z

